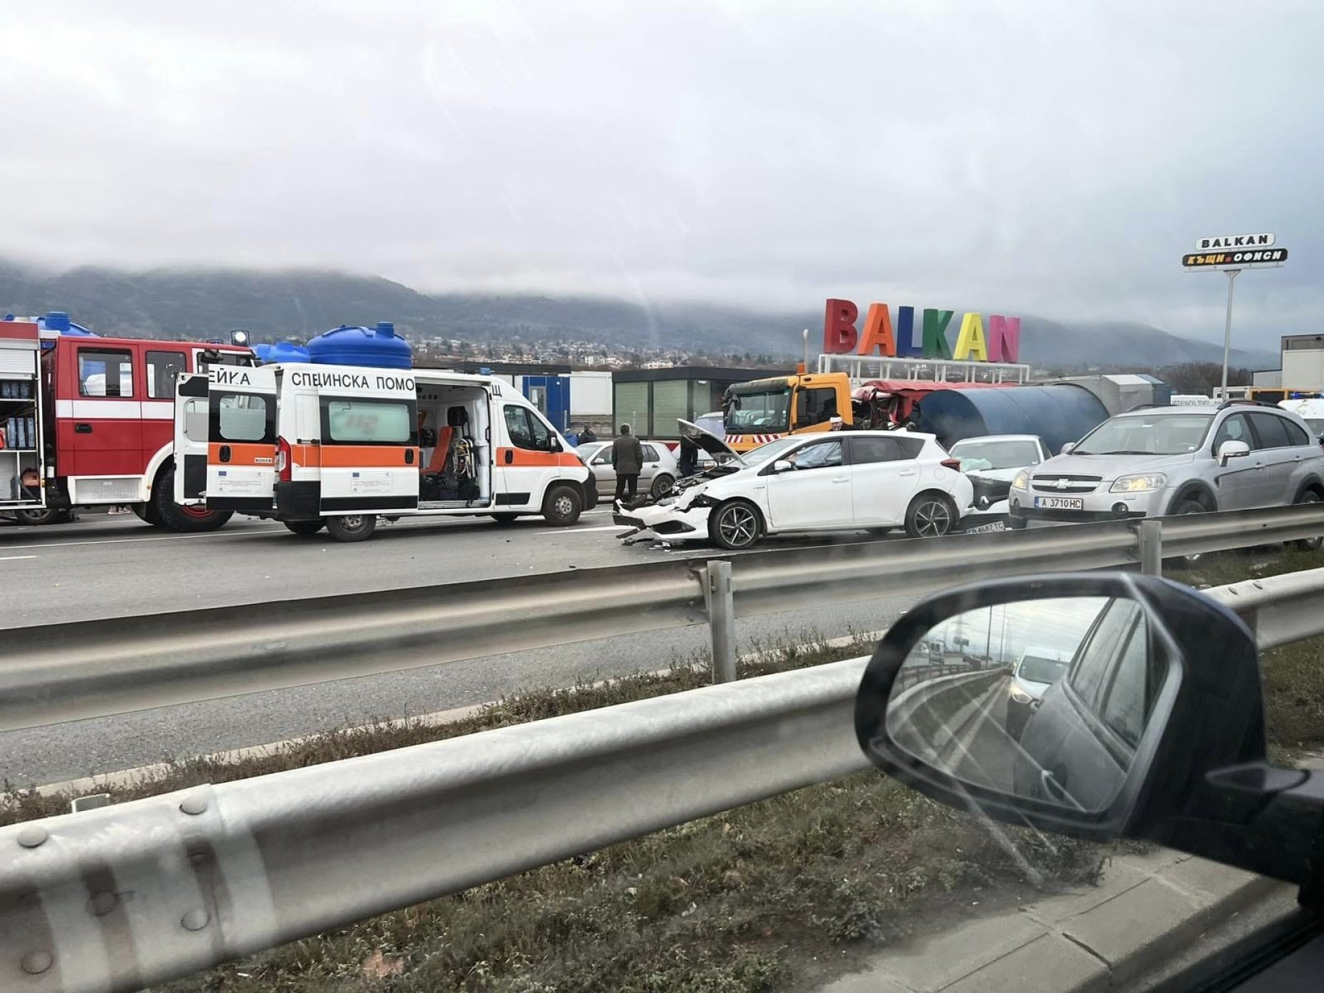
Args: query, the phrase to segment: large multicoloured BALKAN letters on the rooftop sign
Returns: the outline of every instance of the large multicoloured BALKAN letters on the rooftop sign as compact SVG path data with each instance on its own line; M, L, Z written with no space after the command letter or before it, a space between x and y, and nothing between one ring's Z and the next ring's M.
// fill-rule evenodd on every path
M829 299L824 314L824 351L833 355L878 355L915 359L960 359L967 361L1016 361L1021 355L1021 318L965 314L956 335L956 347L947 340L952 323L949 310L924 310L916 340L915 308L898 307L896 326L886 303L870 303L865 328L855 327L859 307L850 301Z

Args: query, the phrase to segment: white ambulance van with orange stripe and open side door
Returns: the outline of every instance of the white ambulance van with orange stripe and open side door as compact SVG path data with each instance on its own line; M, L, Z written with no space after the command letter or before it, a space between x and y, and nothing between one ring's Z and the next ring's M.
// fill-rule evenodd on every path
M573 524L597 500L565 438L508 384L442 369L214 365L179 377L175 500L361 542L422 514Z

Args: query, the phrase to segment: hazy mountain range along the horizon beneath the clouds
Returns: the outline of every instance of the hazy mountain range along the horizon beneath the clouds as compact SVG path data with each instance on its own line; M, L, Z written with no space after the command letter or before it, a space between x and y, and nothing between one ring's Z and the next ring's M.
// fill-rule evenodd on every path
M62 310L105 335L208 339L249 328L257 342L306 340L339 324L393 320L406 336L469 342L580 340L624 350L675 348L798 356L817 351L822 311L760 314L702 303L641 306L587 297L428 295L389 279L336 271L78 267L44 273L0 261L0 312ZM955 340L956 320L948 331ZM1131 322L1022 315L1021 361L1123 368L1222 361L1222 346ZM1276 368L1268 351L1233 350L1231 364Z

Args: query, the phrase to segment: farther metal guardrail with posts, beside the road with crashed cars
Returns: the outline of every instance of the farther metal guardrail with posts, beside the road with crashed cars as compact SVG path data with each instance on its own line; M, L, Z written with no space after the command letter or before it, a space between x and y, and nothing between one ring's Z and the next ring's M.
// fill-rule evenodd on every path
M1157 523L1165 555L1193 555L1319 536L1324 504ZM673 560L38 625L0 643L0 731L704 622L720 679L739 617L1143 557L1136 526L1117 520L769 549L735 556L730 580L722 565L710 576L702 559Z

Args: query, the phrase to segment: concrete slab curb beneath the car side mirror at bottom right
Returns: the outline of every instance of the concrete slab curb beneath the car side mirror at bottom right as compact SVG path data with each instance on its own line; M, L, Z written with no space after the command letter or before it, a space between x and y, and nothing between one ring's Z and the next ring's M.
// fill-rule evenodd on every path
M820 993L1102 993L1144 974L1246 907L1294 887L1160 850L1113 858L1098 887L1046 896L874 956Z

